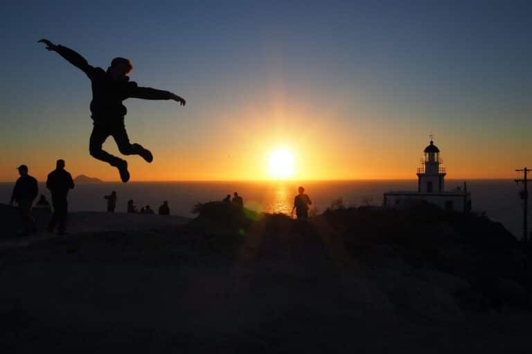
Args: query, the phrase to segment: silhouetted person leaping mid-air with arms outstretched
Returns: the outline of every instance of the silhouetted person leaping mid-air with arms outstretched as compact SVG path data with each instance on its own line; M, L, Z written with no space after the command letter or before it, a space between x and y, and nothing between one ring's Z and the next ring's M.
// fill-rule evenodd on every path
M130 180L127 162L104 151L103 142L112 136L123 155L139 155L147 162L152 162L153 156L150 150L142 145L130 143L124 124L127 109L122 101L130 97L143 100L174 100L181 106L184 106L186 101L175 93L140 87L136 82L130 81L127 75L131 73L133 66L129 59L116 57L107 71L104 71L103 68L89 65L84 57L70 48L55 45L48 39L41 39L38 42L46 44L46 49L59 53L73 66L80 68L91 80L91 118L94 121L94 128L89 141L89 151L94 158L116 167L122 182L127 182Z

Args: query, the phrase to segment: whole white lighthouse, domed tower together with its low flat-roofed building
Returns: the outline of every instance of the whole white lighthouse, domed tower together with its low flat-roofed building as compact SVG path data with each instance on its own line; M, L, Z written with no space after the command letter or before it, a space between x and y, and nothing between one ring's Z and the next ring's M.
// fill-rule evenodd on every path
M423 151L421 167L418 167L417 192L387 192L384 193L384 207L393 209L407 209L418 203L431 203L447 211L469 212L471 209L471 194L467 185L463 189L445 191L445 167L440 157L440 149L431 140Z

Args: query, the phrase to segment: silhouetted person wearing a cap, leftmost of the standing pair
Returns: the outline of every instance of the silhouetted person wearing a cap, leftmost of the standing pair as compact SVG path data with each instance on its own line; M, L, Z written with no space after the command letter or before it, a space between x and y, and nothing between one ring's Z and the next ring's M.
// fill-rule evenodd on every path
M21 234L29 234L37 231L31 210L33 209L33 201L39 194L39 186L37 180L28 174L28 166L20 165L18 170L20 177L15 183L9 204L17 203L24 223L24 231Z

